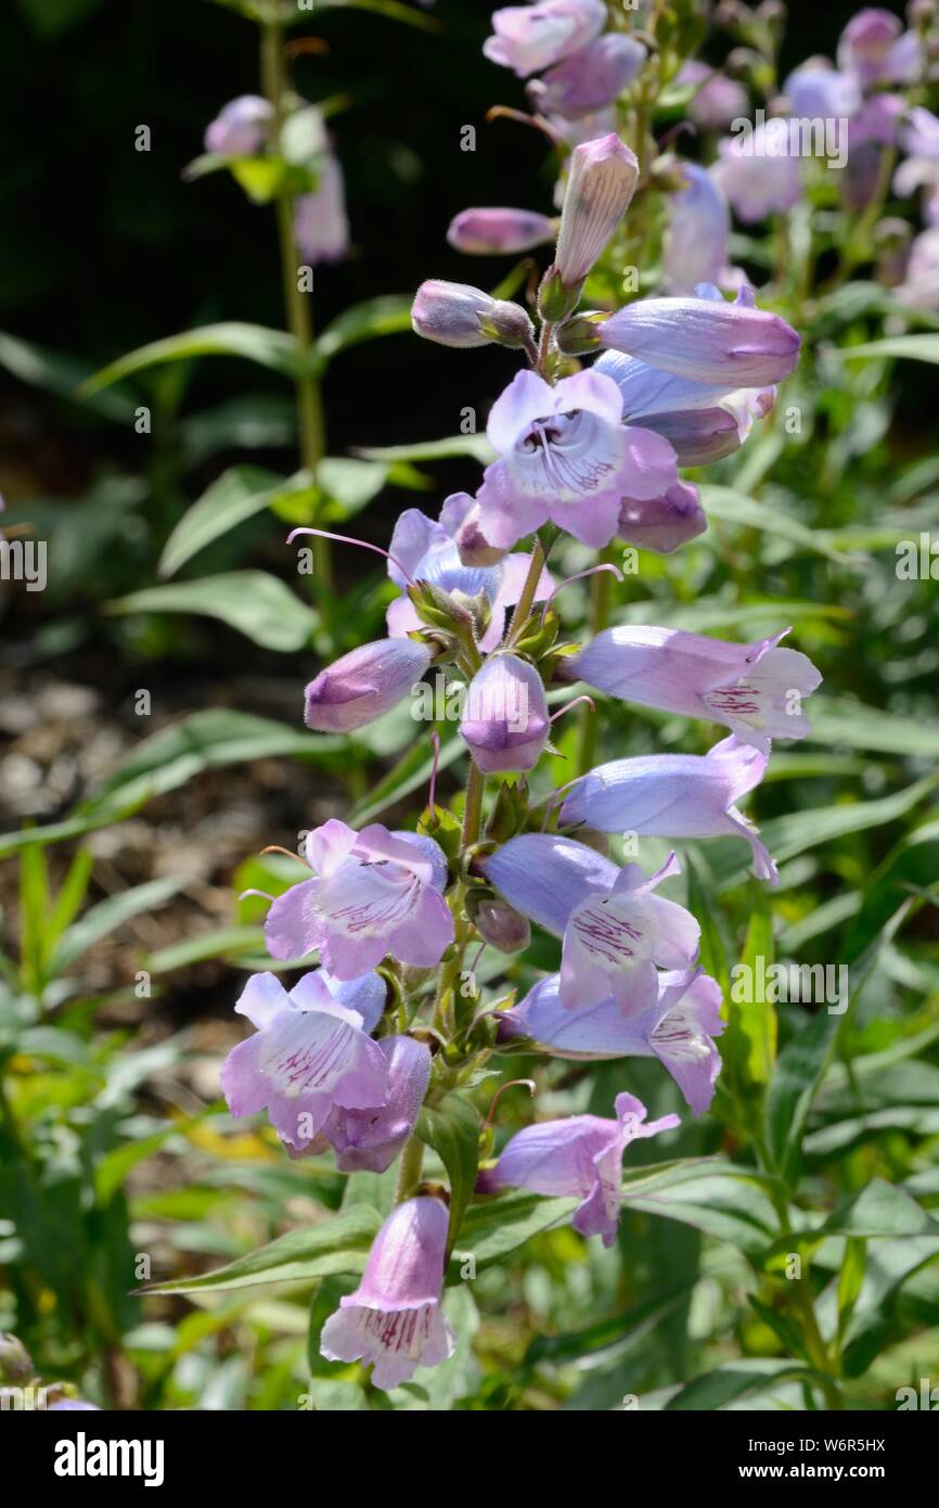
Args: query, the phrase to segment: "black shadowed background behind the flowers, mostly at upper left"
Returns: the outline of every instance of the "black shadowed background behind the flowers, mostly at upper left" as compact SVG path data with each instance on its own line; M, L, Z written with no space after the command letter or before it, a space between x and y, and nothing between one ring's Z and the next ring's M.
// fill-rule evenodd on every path
M832 54L856 9L790 8L784 65ZM255 26L208 0L5 0L0 11L0 329L95 368L213 320L282 326L270 208L250 205L225 173L181 179L219 107L259 87ZM506 264L454 253L451 216L472 204L550 208L538 133L484 119L497 101L525 104L523 84L481 53L490 12L482 0L439 0L427 14L442 29L430 35L329 9L294 33L330 45L329 57L295 63L298 92L353 93L333 128L356 252L317 273L318 327L427 276L491 285ZM716 36L710 56L719 60L725 45ZM149 154L134 151L139 124L151 127ZM466 124L476 125L476 152L460 151ZM500 351L467 362L407 336L360 347L330 374L330 449L451 434L463 404L484 410L512 369ZM279 386L246 371L202 362L185 412L246 386ZM11 498L81 492L102 449L130 467L140 457L119 425L101 427L6 375L0 440ZM196 477L194 492L203 483Z

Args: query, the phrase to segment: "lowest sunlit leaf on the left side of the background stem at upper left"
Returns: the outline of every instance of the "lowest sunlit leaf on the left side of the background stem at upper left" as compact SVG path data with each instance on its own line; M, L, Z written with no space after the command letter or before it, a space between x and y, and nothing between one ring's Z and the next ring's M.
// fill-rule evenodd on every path
M145 587L109 603L112 612L190 612L219 618L265 650L301 650L320 621L312 608L262 570Z

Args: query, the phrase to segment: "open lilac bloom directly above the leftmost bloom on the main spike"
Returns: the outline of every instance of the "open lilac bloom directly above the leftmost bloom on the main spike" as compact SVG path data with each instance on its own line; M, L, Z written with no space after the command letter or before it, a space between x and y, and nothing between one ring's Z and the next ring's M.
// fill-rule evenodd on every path
M380 822L356 832L330 817L306 838L314 879L271 903L264 935L273 958L320 950L336 979L368 973L392 953L433 968L454 941L443 899L446 860L433 838L389 832Z

